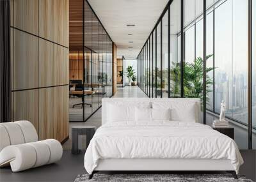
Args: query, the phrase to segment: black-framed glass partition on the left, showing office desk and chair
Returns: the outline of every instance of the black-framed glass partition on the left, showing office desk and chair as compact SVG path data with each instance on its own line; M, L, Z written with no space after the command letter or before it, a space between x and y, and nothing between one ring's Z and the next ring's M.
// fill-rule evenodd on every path
M70 121L86 121L99 109L102 98L112 96L111 38L87 1L81 15L81 24L74 22L83 36L70 37L76 42L76 46L70 45Z

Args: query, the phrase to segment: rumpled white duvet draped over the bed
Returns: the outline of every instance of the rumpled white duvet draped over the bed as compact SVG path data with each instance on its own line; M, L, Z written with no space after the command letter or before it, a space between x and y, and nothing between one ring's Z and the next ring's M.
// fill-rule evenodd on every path
M99 159L229 159L238 173L243 158L236 142L210 126L192 122L116 122L100 126L84 155L89 174Z

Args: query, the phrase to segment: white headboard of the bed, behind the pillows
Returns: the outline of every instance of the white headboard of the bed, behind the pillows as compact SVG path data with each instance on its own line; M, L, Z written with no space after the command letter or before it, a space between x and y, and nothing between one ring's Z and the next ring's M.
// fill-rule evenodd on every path
M147 103L152 108L152 102L171 102L171 103L195 103L196 123L200 123L200 98L103 98L102 99L102 125L108 121L108 105L138 105Z

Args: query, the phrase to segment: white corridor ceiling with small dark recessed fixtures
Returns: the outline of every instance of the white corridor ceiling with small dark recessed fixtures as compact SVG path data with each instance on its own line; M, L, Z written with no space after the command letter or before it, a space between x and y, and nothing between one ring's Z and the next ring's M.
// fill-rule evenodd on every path
M168 3L168 0L88 1L116 43L117 56L125 59L136 59ZM128 27L127 24L135 26Z

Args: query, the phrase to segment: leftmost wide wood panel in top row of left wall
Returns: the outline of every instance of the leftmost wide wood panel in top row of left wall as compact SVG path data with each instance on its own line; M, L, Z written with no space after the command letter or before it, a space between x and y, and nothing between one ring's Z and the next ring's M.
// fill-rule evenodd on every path
M13 25L38 35L38 0L13 0Z

